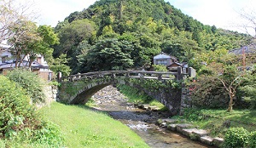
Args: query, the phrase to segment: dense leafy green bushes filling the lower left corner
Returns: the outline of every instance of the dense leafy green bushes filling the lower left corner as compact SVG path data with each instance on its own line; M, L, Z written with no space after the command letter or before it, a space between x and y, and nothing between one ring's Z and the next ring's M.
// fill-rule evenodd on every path
M36 81L36 79L32 79ZM59 147L59 127L44 122L26 91L7 77L0 76L0 145L1 147Z

